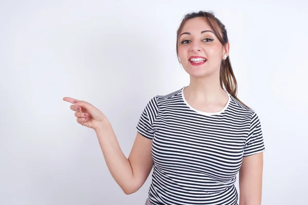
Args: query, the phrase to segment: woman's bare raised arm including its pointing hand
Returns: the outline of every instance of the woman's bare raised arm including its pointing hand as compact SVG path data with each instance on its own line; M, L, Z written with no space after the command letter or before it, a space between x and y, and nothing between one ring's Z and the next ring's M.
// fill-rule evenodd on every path
M146 181L153 167L151 155L152 140L137 132L136 139L128 159L123 154L117 137L107 117L97 108L86 101L64 97L73 105L77 122L94 129L107 163L107 167L125 194L137 192Z

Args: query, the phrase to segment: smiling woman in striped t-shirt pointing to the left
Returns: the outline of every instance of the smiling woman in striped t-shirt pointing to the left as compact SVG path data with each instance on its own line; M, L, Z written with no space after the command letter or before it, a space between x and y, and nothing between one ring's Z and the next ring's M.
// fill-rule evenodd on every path
M138 191L153 167L146 204L261 204L261 124L237 98L225 26L212 12L185 15L177 53L189 86L149 100L128 159L106 116L74 104L77 121L97 133L108 169L126 194Z

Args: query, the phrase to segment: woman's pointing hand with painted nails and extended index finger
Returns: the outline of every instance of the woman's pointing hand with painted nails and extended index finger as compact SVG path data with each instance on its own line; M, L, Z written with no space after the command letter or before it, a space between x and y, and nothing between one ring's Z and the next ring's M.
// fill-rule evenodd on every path
M74 105L70 106L70 109L75 111L75 116L79 124L92 128L95 131L99 125L108 122L107 117L97 108L87 103L86 101L73 99L70 97L64 97L64 101L68 101Z

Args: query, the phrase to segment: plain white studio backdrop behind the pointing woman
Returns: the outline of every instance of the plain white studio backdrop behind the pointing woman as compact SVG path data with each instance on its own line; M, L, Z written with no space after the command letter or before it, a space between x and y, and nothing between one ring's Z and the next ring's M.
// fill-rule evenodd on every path
M0 204L144 204L125 195L69 96L99 108L128 157L149 99L189 84L176 31L225 24L238 97L259 115L262 204L308 204L306 1L0 1ZM239 191L238 181L236 187Z

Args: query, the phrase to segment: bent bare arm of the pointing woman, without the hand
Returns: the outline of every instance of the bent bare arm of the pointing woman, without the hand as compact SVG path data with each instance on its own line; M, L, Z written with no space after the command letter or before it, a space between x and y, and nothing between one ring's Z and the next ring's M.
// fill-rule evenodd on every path
M137 132L128 159L120 148L109 122L95 129L107 167L125 194L137 192L148 178L153 167L152 140Z

